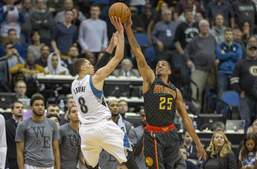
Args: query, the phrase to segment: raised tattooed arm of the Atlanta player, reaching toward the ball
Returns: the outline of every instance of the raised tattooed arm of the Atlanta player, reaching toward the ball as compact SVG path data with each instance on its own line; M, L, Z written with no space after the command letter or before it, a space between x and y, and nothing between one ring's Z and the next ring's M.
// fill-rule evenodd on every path
M152 71L152 69L147 65L145 56L142 54L140 46L138 45L137 40L135 39L135 36L132 32L131 25L132 25L132 21L131 21L131 18L129 18L129 20L124 23L124 27L127 32L129 44L137 60L138 71L140 75L143 77L144 82L146 80L146 82L152 83L155 79L155 74ZM144 93L144 84L143 84L143 93Z

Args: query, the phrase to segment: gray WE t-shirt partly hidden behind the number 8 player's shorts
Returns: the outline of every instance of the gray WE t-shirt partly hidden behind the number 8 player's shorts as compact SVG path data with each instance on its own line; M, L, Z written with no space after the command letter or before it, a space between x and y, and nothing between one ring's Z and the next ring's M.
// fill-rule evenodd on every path
M70 123L60 126L59 133L61 168L76 169L81 144L80 133L73 130Z

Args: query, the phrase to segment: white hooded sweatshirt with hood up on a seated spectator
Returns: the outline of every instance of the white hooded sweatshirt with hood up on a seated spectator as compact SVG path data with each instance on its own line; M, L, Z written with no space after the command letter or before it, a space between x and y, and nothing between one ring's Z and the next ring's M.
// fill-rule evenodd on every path
M56 68L52 65L52 57L56 55L58 58L58 64ZM49 75L59 75L61 72L65 71L65 75L70 75L69 69L61 65L61 58L58 53L52 52L47 58L47 67L44 68L46 74Z

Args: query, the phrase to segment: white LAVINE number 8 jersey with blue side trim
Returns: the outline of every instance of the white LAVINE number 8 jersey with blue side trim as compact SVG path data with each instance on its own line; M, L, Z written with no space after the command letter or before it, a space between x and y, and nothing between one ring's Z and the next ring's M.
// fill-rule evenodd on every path
M71 85L71 93L78 107L78 116L83 124L96 123L111 118L103 91L97 90L92 83L92 76L75 79Z

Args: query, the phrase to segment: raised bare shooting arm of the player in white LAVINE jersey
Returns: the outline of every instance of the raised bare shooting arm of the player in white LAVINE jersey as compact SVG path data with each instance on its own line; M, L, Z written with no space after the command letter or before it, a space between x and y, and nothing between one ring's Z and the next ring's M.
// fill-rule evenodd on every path
M112 17L110 19L111 19L112 24L117 29L117 32L112 35L112 38L117 38L118 44L116 47L115 55L110 60L110 62L106 66L99 69L95 73L95 75L92 76L92 78L96 79L98 82L103 81L110 73L112 73L112 71L115 69L115 67L123 59L123 55L124 55L124 33L123 33L123 26L120 23L120 18L119 18L119 21L117 20L116 16L115 16L115 18ZM94 84L94 82L93 82L93 84Z

